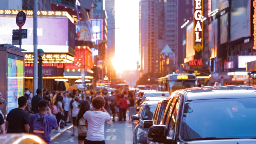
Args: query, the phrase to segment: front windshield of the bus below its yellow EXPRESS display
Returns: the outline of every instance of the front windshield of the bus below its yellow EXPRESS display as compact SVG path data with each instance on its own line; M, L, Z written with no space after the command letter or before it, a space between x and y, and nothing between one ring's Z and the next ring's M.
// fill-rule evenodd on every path
M174 92L175 90L190 88L190 87L196 87L195 80L183 80L183 81L170 80L169 81L169 88L171 92Z

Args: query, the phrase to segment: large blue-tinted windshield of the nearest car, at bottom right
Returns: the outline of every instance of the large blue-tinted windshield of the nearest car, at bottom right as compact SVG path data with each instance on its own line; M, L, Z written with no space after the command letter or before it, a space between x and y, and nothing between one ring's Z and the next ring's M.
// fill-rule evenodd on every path
M194 100L185 104L181 137L256 137L256 98Z

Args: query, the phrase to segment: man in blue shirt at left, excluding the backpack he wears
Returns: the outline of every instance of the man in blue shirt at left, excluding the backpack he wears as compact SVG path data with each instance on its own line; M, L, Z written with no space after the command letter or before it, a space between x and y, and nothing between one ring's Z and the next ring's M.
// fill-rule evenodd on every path
M42 99L41 101L39 101L38 102L38 110L39 110L39 115L41 115L41 116L49 114L46 118L48 119L49 129L50 129L50 133L51 133L51 131L57 127L57 119L55 117L51 116L51 110L48 106L48 101L45 99ZM29 126L32 126L35 117L36 117L36 114L30 115ZM48 144L51 143L51 135L49 135L46 142Z

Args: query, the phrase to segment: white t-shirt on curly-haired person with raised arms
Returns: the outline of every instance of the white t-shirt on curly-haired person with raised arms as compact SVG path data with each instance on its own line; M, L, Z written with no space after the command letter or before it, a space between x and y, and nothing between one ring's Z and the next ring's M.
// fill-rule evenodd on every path
M89 141L104 141L105 121L110 120L110 115L103 111L86 111L83 118L87 120L88 130L86 139Z

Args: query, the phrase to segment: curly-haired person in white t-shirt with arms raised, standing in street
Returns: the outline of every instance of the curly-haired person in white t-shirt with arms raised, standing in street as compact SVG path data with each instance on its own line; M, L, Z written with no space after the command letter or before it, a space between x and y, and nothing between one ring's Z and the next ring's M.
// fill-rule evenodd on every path
M88 130L85 143L90 144L105 144L104 125L105 121L110 121L111 116L104 109L105 99L102 96L97 96L92 101L93 108L83 115L87 120ZM103 112L103 111L105 112Z

